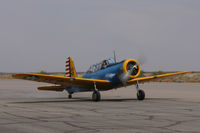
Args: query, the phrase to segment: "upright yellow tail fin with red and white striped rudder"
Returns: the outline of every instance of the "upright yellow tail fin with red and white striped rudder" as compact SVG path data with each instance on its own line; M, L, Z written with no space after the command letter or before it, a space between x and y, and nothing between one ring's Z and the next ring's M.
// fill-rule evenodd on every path
M73 78L77 77L76 69L75 69L72 57L67 58L65 76L66 77L73 77Z

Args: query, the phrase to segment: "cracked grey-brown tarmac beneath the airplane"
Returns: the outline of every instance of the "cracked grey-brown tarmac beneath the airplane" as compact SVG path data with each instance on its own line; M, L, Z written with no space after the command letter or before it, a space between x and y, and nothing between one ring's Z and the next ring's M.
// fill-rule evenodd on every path
M146 83L91 93L38 91L48 85L0 80L0 131L6 133L200 133L200 84Z

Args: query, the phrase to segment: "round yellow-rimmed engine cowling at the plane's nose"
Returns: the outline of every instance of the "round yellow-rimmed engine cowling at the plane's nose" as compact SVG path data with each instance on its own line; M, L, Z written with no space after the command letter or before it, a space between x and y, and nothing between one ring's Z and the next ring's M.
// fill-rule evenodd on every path
M128 75L130 79L138 77L141 72L140 64L134 59L125 60L122 69L124 74Z

